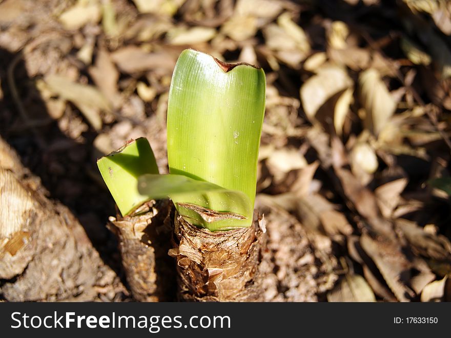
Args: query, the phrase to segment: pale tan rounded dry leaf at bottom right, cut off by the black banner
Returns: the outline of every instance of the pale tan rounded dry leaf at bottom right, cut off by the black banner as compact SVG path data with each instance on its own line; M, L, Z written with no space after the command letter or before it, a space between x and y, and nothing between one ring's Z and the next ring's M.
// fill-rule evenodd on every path
M373 290L358 274L346 274L332 291L327 292L328 302L376 302Z

